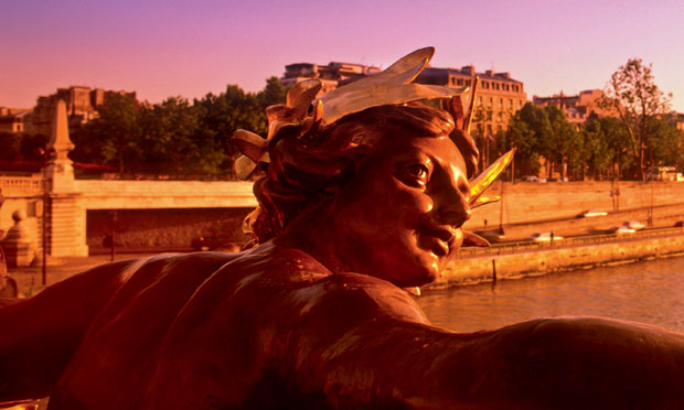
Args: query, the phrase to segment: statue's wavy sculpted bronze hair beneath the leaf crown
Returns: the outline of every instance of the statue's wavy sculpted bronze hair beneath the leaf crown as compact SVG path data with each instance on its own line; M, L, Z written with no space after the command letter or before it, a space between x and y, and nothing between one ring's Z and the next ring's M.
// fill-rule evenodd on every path
M246 219L258 244L279 236L287 225L313 205L330 202L335 187L354 176L354 164L384 138L449 136L466 160L469 177L477 171L472 138L455 129L445 110L419 102L381 106L343 117L323 131L300 136L297 127L272 138L266 175L255 182L259 206Z

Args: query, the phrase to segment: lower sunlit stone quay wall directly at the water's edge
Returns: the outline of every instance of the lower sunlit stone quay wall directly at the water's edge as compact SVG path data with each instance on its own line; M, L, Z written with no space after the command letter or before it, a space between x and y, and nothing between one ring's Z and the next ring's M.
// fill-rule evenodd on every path
M428 289L684 255L684 235L457 259Z

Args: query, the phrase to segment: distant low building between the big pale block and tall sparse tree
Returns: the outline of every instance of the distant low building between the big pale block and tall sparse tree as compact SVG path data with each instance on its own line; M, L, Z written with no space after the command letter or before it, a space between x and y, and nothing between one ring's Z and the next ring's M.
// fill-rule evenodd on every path
M556 106L565 112L568 121L583 123L587 121L591 114L602 117L612 116L610 111L603 110L598 106L598 99L601 97L603 97L603 91L600 89L587 89L575 96L566 96L563 91L551 97L534 96L532 101L539 108Z

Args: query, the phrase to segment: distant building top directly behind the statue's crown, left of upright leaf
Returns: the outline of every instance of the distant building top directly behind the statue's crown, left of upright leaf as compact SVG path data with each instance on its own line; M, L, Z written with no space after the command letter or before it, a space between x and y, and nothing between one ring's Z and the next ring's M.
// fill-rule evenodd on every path
M322 91L328 93L338 85L380 72L378 67L353 63L331 62L328 65L296 63L285 66L285 75L280 78L280 83L289 86L304 79L318 78L323 84Z

